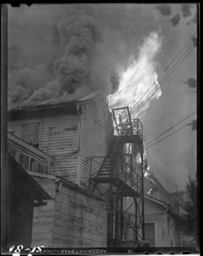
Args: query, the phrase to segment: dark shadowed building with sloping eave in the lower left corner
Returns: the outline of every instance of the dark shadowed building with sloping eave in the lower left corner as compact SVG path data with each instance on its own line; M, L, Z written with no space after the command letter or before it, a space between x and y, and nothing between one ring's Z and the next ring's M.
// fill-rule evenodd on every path
M33 211L51 196L8 154L9 196L7 246L32 243Z

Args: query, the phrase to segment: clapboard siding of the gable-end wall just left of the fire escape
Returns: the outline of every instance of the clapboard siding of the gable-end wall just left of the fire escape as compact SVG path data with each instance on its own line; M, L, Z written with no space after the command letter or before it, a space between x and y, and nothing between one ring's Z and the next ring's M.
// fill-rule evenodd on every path
M88 186L90 170L89 157L104 157L108 150L106 120L110 113L107 104L97 100L83 106L80 135L80 185Z

